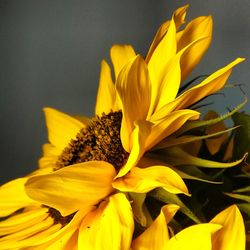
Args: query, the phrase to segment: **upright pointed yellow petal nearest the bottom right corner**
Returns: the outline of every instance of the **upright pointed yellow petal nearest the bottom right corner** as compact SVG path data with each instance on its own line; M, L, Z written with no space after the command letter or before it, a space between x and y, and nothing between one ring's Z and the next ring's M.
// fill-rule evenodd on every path
M215 250L245 250L246 234L244 221L236 205L230 206L216 215L210 223L222 225L213 236Z

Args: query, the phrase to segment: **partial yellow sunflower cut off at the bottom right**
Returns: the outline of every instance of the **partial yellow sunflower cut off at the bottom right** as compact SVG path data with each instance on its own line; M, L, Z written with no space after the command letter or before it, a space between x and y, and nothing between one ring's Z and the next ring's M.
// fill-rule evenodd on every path
M245 250L244 222L237 206L223 210L209 223L193 225L171 235L166 224L178 209L176 205L164 206L152 225L133 240L131 249Z

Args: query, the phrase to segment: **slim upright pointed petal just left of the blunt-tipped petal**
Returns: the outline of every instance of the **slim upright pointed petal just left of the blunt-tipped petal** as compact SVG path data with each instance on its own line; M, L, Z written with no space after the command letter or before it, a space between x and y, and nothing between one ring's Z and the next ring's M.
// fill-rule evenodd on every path
M115 85L112 80L111 69L108 63L102 60L95 114L101 116L103 113L108 114L111 109L115 111L115 97Z

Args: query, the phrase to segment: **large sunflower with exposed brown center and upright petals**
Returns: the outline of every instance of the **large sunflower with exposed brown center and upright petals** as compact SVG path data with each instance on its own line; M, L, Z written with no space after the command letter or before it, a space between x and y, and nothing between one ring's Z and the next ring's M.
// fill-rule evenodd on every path
M0 249L129 249L133 213L143 226L151 220L143 205L147 192L162 187L188 195L170 167L145 167L141 161L187 121L198 119L199 112L189 107L220 90L243 59L181 93L181 82L207 50L212 32L210 16L178 31L186 9L177 9L159 28L145 58L129 45L111 48L115 79L102 61L94 118L44 109L49 143L40 169L0 189ZM32 224L26 213L39 211ZM20 229L12 224L16 218ZM47 220L46 227L35 227Z

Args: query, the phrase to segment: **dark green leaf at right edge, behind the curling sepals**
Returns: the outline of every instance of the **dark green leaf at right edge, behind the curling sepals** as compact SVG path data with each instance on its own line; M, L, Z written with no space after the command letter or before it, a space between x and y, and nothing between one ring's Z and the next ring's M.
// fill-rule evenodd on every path
M250 115L244 112L235 113L232 119L236 126L241 126L235 131L234 156L237 158L250 152Z

